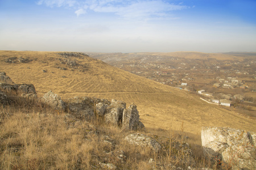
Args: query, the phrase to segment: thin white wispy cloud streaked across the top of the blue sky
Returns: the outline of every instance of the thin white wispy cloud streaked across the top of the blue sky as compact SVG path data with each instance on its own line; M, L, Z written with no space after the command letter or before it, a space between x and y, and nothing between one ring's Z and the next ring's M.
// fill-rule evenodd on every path
M172 18L171 11L189 8L163 0L40 0L38 5L73 7L77 16L94 11L110 12L125 19Z

